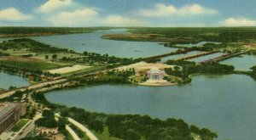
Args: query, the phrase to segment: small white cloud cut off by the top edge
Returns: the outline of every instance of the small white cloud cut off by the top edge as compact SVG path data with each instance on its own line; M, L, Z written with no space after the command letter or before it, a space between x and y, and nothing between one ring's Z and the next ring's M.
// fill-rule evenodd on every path
M67 8L73 4L72 0L48 0L38 8L39 12L49 13L57 9Z

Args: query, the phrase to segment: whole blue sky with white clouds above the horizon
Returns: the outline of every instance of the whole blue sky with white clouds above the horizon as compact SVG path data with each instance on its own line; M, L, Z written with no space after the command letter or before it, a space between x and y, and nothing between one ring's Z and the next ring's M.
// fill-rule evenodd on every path
M0 0L0 26L256 26L256 0Z

